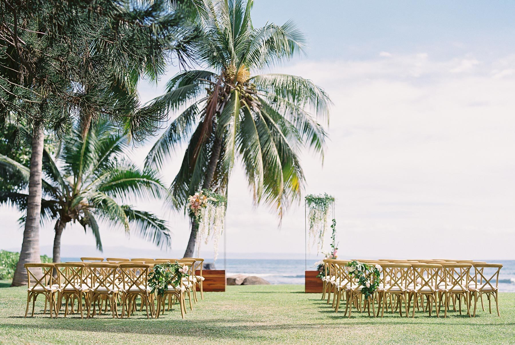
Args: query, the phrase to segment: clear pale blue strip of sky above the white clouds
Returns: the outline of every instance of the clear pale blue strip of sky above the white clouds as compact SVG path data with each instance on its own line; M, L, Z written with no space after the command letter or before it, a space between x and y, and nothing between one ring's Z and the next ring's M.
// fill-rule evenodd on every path
M512 1L256 1L255 25L294 20L310 59L366 59L378 51L491 58L515 45Z

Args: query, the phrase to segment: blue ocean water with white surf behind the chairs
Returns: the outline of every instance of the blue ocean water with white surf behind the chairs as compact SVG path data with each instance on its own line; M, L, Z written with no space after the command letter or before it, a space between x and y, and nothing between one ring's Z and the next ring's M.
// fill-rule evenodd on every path
M79 258L66 257L63 261L80 261ZM206 262L211 260L207 259ZM499 290L515 292L515 260L482 260L503 264L499 275ZM307 260L307 270L315 270L316 260ZM215 262L215 268L224 269L224 259ZM304 284L305 261L303 259L227 259L226 276L234 274L255 275L262 277L270 284ZM489 278L493 269L485 269L484 274Z

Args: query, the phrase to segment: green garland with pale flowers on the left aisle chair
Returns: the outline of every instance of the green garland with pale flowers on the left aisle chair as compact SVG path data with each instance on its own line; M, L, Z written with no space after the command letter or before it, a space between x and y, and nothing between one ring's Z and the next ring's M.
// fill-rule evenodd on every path
M181 284L183 277L190 276L187 272L189 266L181 266L177 261L174 264L157 264L154 265L153 272L148 278L148 285L152 288L150 293L157 291L158 294L163 296L168 290L168 286L179 288L185 291L188 286Z

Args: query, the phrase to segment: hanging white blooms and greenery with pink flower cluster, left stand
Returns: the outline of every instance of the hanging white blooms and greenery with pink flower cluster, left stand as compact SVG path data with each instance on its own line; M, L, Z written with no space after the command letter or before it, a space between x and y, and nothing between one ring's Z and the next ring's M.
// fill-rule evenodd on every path
M218 257L218 241L224 232L225 211L227 199L225 196L212 191L200 190L188 197L190 216L198 224L197 230L197 256L199 256L202 241L208 244L213 240L214 257Z

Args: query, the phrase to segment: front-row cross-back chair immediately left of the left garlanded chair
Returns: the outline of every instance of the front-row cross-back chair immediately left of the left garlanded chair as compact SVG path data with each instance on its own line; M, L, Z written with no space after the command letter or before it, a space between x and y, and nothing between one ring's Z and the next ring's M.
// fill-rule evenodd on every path
M150 290L148 286L148 273L150 265L133 263L133 264L120 264L122 271L122 318L125 316L125 310L127 309L127 317L130 317L132 310L135 308L136 297L141 297L141 304L145 304L147 312L147 319L152 314L152 309L149 313L149 305L153 304L151 299Z

